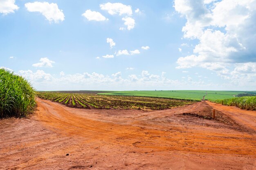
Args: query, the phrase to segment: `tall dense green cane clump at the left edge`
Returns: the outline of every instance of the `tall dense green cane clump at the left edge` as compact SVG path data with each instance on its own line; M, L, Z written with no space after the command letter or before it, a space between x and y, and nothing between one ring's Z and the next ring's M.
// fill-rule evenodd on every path
M35 106L31 84L13 72L0 69L0 118L27 116Z

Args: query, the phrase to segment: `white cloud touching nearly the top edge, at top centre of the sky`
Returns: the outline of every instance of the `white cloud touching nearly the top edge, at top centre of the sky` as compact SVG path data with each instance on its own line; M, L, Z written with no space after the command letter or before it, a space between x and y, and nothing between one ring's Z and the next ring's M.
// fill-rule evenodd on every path
M108 11L110 15L132 15L132 7L122 3L105 3L99 5L102 10Z

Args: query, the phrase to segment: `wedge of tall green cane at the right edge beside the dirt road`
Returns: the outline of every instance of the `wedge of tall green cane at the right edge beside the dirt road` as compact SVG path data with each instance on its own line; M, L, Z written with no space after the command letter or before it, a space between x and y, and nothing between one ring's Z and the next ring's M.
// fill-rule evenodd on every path
M231 99L215 100L213 102L227 106L237 106L246 110L256 110L256 96L234 97Z

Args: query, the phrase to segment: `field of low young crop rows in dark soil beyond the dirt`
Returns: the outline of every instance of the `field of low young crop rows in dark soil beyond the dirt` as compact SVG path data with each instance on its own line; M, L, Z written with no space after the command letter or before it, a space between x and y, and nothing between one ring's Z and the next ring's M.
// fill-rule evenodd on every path
M151 97L131 97L97 94L37 92L39 98L59 102L70 107L97 109L150 109L161 110L184 106L192 101Z

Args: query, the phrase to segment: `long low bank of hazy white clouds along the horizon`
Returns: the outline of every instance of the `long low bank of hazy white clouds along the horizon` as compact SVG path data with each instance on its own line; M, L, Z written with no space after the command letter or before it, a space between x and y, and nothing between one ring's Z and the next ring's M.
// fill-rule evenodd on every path
M252 63L251 65L256 65ZM244 67L243 65L237 65L236 67ZM246 67L246 66L245 66ZM250 67L250 66L248 66ZM246 69L245 69L246 70ZM248 68L250 70L250 68ZM252 69L251 69L252 70ZM22 75L38 90L81 90L81 89L95 89L103 90L102 84L105 84L105 90L152 90L152 89L182 89L188 87L194 87L195 89L221 89L225 86L227 89L241 90L240 85L246 84L248 88L255 88L256 82L243 82L247 77L254 77L255 73L239 74L235 77L236 73L228 75L231 77L229 84L214 84L213 82L205 83L202 80L193 81L190 76L182 77L181 80L168 79L166 73L162 72L160 75L150 74L148 71L142 71L141 75L128 75L126 78L122 78L121 72L113 73L111 76L103 75L100 73L76 73L76 74L65 74L58 78L54 77L49 73L45 73L42 70L33 72L31 70L18 71L19 75ZM234 77L232 77L234 75ZM234 80L233 80L234 79ZM242 80L241 80L242 79ZM208 81L207 81L208 82ZM239 84L240 83L240 84Z

